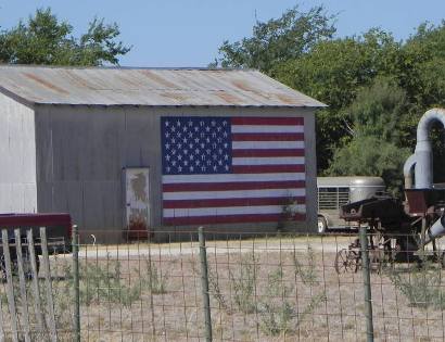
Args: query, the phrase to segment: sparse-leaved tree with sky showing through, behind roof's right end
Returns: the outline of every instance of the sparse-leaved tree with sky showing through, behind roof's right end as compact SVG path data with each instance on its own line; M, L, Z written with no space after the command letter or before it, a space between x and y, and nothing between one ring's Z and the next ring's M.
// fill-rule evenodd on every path
M253 36L219 47L218 63L223 67L251 67L269 73L276 63L300 58L319 41L335 33L334 16L328 16L323 7L300 12L288 10L278 20L257 22Z

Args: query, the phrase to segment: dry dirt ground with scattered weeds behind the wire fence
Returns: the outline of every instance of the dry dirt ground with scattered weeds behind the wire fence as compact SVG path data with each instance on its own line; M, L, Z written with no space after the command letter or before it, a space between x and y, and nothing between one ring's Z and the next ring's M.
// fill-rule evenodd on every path
M214 341L365 341L361 270L338 275L333 267L352 239L207 242ZM71 263L69 255L51 261L59 335L66 341ZM82 341L205 341L196 242L88 246L80 266ZM420 278L411 270L397 264L371 274L376 341L444 340L445 305L431 304L442 299L441 282L422 278L435 287L431 303L414 304L407 293L418 289L407 284ZM442 270L428 275L441 278Z

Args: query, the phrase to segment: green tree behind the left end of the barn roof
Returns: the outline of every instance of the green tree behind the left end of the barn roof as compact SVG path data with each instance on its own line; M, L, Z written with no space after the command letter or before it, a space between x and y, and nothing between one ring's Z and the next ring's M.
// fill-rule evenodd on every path
M75 38L73 26L60 22L50 9L37 10L27 23L0 33L0 63L86 65L118 64L118 56L130 51L116 41L117 24L94 18L88 31Z

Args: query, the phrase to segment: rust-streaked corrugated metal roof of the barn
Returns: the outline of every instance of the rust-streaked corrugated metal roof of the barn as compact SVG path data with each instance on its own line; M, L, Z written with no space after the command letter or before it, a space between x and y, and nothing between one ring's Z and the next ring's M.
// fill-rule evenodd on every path
M325 106L244 69L1 65L0 91L28 104Z

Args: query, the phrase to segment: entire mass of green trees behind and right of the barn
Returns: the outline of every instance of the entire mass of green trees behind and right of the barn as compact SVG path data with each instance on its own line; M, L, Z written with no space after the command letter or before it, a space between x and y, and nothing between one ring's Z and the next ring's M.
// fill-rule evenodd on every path
M294 8L257 23L250 38L225 41L219 62L258 68L328 104L316 114L319 174L383 176L395 190L420 116L445 106L445 21L396 41L376 28L334 38L334 20L322 7ZM432 136L441 181L443 129Z

